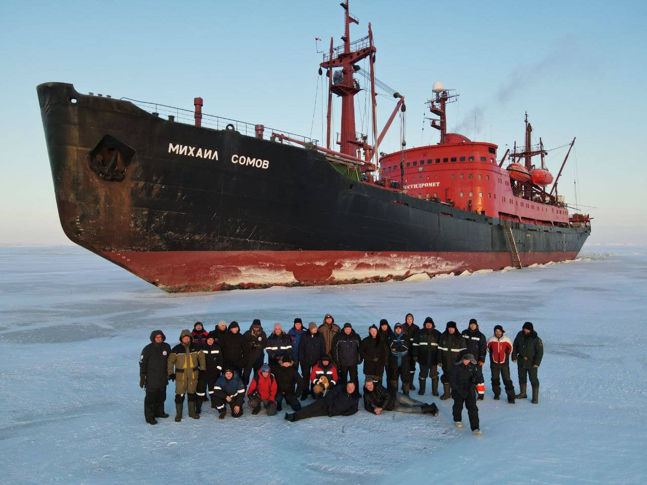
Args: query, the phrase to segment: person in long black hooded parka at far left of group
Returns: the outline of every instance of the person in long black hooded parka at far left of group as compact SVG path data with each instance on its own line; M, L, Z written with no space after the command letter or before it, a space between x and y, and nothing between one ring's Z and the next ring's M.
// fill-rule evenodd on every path
M151 343L146 345L139 357L139 387L146 387L144 418L148 424L157 424L155 418L168 418L164 412L168 378L166 365L171 346L166 343L162 330L151 332Z

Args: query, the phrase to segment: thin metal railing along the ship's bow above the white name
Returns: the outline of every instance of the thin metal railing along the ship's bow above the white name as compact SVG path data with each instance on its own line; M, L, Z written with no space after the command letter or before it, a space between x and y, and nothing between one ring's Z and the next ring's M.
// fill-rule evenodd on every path
M177 108L174 106L168 106L160 103L151 103L146 101L133 100L131 98L121 98L124 101L129 101L134 105L137 105L144 111L148 113L156 114L157 116L166 116L167 118L173 120L174 122L194 125L195 124L195 112L189 109ZM214 114L202 113L201 124L203 126L214 128L217 130L231 129L234 128L235 131L241 133L241 135L246 136L262 136L264 140L270 140L272 133L281 133L281 135L288 136L289 138L294 138L296 140L302 140L303 143L309 143L316 145L318 140L313 140L308 136L296 135L295 133L289 133L288 131L278 130L274 128L269 128L263 125L262 131L258 130L259 124L241 122L239 120L232 120L231 118L223 118L223 116L215 116ZM283 141L285 144L292 144L288 140Z

